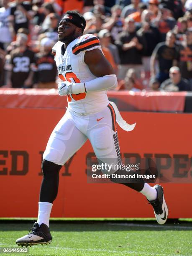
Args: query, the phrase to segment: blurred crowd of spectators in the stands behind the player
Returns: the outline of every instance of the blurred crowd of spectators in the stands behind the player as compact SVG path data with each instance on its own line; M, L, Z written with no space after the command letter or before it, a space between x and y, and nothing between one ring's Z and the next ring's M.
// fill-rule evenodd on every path
M0 0L1 87L56 87L51 49L67 10L100 39L116 90L192 90L192 0Z

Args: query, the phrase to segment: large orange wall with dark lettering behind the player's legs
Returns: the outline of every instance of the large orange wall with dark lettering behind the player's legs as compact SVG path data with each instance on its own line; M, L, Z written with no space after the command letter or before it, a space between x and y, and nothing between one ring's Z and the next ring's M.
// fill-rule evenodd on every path
M37 217L41 157L60 109L0 108L0 217ZM122 156L136 153L192 157L192 115L122 112L134 131L118 127ZM74 141L75 143L75 141ZM89 142L61 169L51 217L154 217L143 195L121 184L87 184ZM192 173L188 173L192 175ZM192 218L192 184L164 184L169 218Z

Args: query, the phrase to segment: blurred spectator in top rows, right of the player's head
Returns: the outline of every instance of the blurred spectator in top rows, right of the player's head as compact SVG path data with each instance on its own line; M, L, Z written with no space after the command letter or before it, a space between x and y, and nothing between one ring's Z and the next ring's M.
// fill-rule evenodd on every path
M103 28L110 31L113 41L117 40L118 34L123 31L123 19L120 17L121 11L120 5L114 5L111 8L111 17L103 24Z

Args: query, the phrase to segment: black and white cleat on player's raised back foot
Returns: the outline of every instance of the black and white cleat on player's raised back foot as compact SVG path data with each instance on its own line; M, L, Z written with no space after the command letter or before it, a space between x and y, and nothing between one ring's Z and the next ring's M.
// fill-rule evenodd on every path
M168 208L165 202L163 188L160 185L155 185L154 188L157 191L157 199L149 201L149 203L154 207L156 221L162 225L166 223Z

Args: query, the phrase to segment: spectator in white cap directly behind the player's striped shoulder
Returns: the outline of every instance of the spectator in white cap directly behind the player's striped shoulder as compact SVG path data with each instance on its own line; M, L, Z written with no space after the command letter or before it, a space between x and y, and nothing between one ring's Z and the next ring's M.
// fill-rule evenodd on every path
M101 46L110 50L110 53L112 54L113 60L115 62L115 69L117 69L118 64L120 64L119 52L117 46L111 43L110 32L108 29L102 29L98 33L98 37L100 38Z

